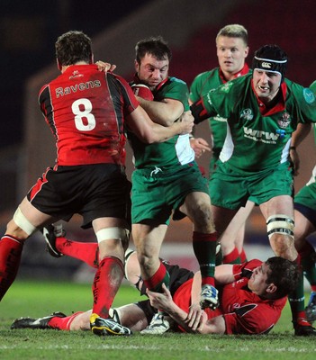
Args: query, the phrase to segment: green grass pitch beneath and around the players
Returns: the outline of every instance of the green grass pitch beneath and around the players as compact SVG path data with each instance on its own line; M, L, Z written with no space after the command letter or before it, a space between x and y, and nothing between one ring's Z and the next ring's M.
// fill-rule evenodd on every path
M115 305L139 299L130 286L122 286ZM266 336L200 336L166 334L159 337L98 338L90 331L11 330L21 316L41 317L52 311L85 311L91 308L90 284L16 281L0 305L0 359L314 359L314 338L293 337L286 306L273 332Z

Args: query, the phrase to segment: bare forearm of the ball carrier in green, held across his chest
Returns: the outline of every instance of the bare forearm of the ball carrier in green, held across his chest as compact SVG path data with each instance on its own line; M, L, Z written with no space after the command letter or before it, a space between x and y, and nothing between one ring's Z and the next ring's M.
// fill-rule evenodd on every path
M148 101L139 96L137 99L149 118L164 126L172 125L185 110L183 103L175 99L163 99L161 102Z

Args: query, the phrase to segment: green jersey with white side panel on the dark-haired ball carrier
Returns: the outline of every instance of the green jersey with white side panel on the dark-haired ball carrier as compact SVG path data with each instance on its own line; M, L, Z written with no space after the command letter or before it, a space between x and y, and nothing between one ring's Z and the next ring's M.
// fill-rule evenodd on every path
M189 110L189 90L184 81L169 76L167 81L153 91L154 101L163 99L179 100L185 111ZM165 142L145 144L131 132L128 139L134 152L136 168L171 167L185 165L194 160L194 150L190 146L189 135L176 135Z

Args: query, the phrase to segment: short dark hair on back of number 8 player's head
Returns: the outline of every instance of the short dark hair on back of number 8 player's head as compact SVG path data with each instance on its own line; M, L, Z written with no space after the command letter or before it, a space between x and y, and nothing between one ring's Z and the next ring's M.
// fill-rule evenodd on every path
M55 43L56 58L61 66L74 65L79 61L90 63L91 39L82 31L68 31Z

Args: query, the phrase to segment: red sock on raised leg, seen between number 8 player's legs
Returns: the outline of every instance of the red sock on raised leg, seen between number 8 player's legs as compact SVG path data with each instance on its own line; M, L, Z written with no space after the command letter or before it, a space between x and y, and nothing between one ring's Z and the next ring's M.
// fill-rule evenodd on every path
M94 242L78 242L68 238L56 238L55 247L61 254L75 257L88 266L98 267L98 245Z

